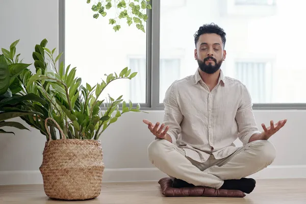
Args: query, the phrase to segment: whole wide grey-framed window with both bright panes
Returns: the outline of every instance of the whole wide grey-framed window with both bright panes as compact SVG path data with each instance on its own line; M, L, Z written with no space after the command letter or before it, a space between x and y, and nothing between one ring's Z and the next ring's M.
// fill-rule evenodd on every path
M254 109L306 108L305 1L151 0L146 33L123 21L114 32L108 18L92 18L86 3L60 2L65 2L60 27L65 31L65 62L79 67L84 82L100 82L105 73L126 66L138 72L133 80L108 87L106 93L113 97L124 94L146 110L163 110L168 87L197 69L194 33L214 22L226 32L221 69L247 86Z

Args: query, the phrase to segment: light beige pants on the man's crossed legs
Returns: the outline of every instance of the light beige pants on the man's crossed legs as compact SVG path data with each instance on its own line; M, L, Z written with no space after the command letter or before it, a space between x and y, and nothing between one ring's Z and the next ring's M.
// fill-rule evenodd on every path
M195 186L219 189L224 180L241 179L256 173L275 159L275 148L267 140L250 142L224 159L210 156L205 163L185 156L182 148L167 140L155 140L148 146L148 156L162 172Z

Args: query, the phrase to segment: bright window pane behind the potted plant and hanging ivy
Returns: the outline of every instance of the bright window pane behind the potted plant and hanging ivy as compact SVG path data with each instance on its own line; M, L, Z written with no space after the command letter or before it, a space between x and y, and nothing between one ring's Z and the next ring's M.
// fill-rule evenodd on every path
M116 16L116 9L111 8L105 17L100 15L94 19L91 6L86 1L66 0L66 66L77 67L83 85L101 83L106 81L104 74L116 72L119 75L123 68L129 67L131 73L138 72L136 77L115 80L100 99L108 94L113 98L123 95L126 101L146 103L146 33L138 30L134 22L129 27L126 19L119 18L116 20L120 20L121 29L115 32L115 24L109 24L109 19ZM135 62L135 58L142 61Z

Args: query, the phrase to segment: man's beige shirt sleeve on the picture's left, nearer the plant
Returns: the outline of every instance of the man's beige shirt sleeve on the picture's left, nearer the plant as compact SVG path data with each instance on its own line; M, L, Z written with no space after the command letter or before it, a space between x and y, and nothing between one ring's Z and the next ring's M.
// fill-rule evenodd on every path
M165 106L164 123L165 126L169 126L167 133L170 135L172 143L175 144L179 134L182 131L181 122L183 120L183 114L180 110L179 103L177 102L175 82L166 91L163 103Z

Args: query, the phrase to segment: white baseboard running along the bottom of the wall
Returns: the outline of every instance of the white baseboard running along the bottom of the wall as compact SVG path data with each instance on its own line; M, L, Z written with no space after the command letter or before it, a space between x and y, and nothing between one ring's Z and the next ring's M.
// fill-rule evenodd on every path
M103 182L158 181L166 174L157 168L105 169ZM254 179L294 179L306 178L306 165L269 166L249 177ZM42 184L42 176L37 171L0 171L0 185Z

